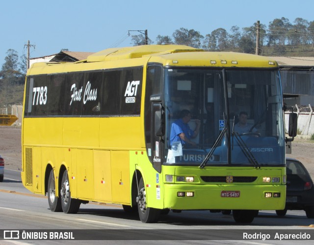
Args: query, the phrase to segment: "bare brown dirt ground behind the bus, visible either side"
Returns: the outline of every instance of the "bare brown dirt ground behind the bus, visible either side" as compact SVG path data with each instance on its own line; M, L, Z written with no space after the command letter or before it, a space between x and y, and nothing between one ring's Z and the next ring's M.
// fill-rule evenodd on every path
M314 141L297 136L291 148L292 154L286 156L303 163L314 179ZM4 158L5 168L21 169L21 127L0 126L0 155Z

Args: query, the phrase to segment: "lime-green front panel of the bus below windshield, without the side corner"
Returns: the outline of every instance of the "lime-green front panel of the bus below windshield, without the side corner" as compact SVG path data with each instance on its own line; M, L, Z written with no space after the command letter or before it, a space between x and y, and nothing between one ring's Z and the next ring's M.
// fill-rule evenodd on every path
M280 210L285 208L286 185L282 183L284 167L210 167L199 169L186 166L163 166L163 175L175 172L173 183L164 182L164 208L253 209ZM193 183L177 182L176 176L194 177ZM206 183L201 176L256 176L251 183ZM280 183L265 183L263 177L279 177ZM193 191L193 197L178 197L178 191ZM240 191L239 197L221 197L221 191ZM265 192L280 192L280 197L265 197Z

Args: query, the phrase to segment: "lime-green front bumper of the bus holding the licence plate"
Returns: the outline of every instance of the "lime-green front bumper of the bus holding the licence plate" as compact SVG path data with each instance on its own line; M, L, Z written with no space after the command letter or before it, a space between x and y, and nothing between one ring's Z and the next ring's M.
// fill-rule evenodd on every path
M283 210L286 185L165 184L164 208Z

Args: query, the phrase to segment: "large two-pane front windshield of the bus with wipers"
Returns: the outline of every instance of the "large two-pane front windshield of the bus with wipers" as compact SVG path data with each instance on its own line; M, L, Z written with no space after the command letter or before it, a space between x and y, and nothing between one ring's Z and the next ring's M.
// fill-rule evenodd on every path
M281 93L274 69L165 69L164 164L282 166Z

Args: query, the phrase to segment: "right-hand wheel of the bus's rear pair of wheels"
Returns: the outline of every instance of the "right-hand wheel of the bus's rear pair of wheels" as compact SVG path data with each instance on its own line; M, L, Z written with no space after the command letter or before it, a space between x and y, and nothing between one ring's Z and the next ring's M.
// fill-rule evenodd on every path
M65 170L61 181L61 206L63 213L76 214L79 209L80 201L78 199L71 198L71 191L69 185L68 171Z

